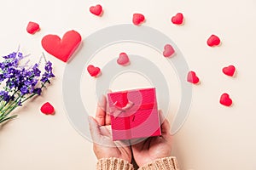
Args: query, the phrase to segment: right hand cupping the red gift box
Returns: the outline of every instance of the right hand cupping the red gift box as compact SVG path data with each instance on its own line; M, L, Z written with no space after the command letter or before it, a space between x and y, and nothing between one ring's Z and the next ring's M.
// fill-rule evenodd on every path
M160 119L164 119L161 111ZM171 156L172 135L170 130L170 123L165 119L161 125L161 136L150 137L143 142L131 146L133 157L139 167L156 159Z

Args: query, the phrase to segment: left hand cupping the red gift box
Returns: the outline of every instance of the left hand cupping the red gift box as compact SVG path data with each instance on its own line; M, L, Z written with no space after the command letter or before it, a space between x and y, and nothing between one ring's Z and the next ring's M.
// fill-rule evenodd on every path
M124 141L113 141L110 116L106 113L107 99L102 96L96 110L96 119L89 116L90 135L97 159L116 157L131 162L131 146Z

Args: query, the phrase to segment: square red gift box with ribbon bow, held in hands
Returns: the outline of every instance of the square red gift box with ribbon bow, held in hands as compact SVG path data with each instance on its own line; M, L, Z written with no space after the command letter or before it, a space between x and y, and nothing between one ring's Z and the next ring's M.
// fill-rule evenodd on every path
M108 94L113 140L160 136L155 88Z

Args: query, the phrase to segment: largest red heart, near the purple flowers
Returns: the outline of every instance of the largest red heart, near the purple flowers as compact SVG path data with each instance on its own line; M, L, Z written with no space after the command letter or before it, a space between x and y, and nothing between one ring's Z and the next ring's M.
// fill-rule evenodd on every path
M77 31L67 31L62 39L56 35L44 36L41 43L45 51L64 62L79 47L82 38Z

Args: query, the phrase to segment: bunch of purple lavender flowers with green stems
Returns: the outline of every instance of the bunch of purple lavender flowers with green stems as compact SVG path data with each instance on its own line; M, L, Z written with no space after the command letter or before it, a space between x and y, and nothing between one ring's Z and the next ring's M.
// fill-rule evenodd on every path
M41 75L39 64L42 57L34 65L28 65L28 61L21 64L26 57L18 51L3 56L0 62L0 125L15 118L17 115L12 115L12 111L26 100L40 95L50 79L55 77L51 62L44 58L44 73Z

